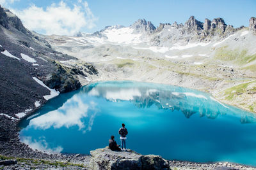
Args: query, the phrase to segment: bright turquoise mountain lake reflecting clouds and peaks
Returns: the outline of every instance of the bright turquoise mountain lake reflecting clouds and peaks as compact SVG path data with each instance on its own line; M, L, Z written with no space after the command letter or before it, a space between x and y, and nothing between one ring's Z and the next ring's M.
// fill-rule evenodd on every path
M256 116L197 90L135 81L84 86L20 122L20 140L45 152L85 153L128 129L127 148L164 159L256 166Z

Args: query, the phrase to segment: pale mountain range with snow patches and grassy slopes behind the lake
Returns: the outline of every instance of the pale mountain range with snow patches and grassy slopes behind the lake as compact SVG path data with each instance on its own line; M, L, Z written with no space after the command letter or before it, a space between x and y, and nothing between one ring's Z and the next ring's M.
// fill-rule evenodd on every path
M140 80L210 92L224 103L256 111L255 18L234 28L223 18L155 27L139 19L93 34L42 36L54 50L99 69L97 80ZM241 87L246 86L246 89ZM232 90L235 89L235 90ZM244 101L246 101L244 103Z

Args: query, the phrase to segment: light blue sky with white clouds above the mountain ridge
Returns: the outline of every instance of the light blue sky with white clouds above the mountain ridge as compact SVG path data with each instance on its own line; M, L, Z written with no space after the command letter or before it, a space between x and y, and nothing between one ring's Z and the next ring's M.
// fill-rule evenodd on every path
M108 25L129 26L139 18L185 23L193 15L204 22L221 17L226 24L248 27L256 17L256 0L0 0L31 31L41 34L92 33Z

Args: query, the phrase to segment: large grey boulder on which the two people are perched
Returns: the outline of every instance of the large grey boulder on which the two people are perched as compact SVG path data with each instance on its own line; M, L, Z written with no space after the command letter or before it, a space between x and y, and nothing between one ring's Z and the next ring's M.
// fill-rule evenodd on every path
M115 152L106 148L90 152L90 169L170 169L167 160L156 155L140 155L132 150Z

